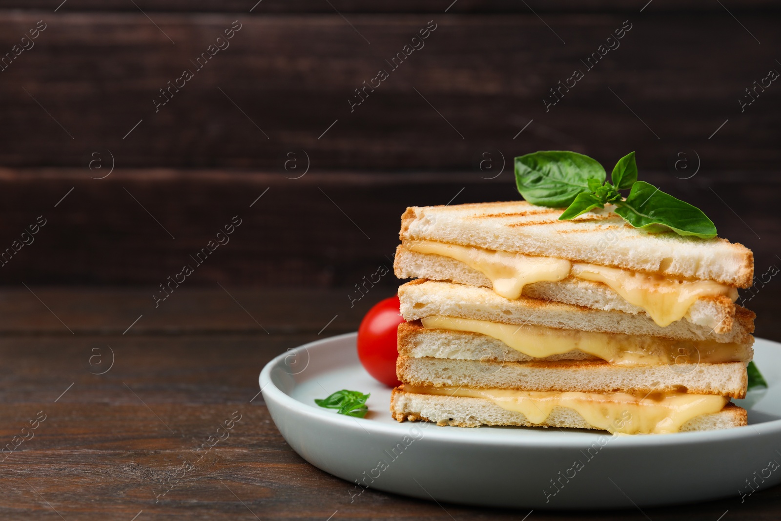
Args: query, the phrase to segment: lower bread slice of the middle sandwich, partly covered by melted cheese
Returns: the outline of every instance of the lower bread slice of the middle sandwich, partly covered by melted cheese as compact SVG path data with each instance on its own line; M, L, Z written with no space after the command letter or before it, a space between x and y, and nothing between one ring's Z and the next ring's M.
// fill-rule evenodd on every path
M514 327L514 326L513 326ZM520 327L519 327L520 329ZM555 330L551 330L555 331ZM565 334L565 339L576 338L580 332L573 331L572 337ZM622 335L621 338L626 338ZM633 339L633 337L632 337ZM533 341L533 340L532 340ZM573 340L574 344L575 341ZM473 331L427 329L419 320L405 322L398 326L398 354L410 358L430 357L435 359L480 360L481 362L555 362L557 360L601 360L593 350L586 352L573 347L571 351L535 358L505 344L505 342ZM600 342L600 346L604 345ZM694 346L694 347L693 347ZM722 344L723 349L717 351L712 344L701 346L688 341L676 341L672 344L658 337L641 338L637 343L627 344L624 349L627 356L614 351L605 351L617 355L621 365L655 365L683 363L723 363L743 362L747 364L754 358L754 349L750 345ZM610 359L608 358L608 361Z

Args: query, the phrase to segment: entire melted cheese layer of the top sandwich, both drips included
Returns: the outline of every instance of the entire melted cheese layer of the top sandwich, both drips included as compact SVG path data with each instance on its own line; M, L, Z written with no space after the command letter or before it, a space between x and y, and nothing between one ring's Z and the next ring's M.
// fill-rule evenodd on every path
M494 252L436 241L410 241L404 246L411 252L442 255L464 262L488 277L494 291L505 298L519 298L526 284L556 282L570 275L601 282L629 304L644 309L661 327L683 319L697 298L726 295L735 302L738 296L736 288L712 280L676 280L585 262Z

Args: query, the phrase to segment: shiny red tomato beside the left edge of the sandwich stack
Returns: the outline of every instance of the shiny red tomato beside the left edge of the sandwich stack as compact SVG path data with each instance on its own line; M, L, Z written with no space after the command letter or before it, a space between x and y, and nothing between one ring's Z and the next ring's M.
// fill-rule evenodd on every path
M396 329L405 321L399 315L400 305L398 297L377 302L358 327L358 359L370 375L391 387L401 385L396 378Z

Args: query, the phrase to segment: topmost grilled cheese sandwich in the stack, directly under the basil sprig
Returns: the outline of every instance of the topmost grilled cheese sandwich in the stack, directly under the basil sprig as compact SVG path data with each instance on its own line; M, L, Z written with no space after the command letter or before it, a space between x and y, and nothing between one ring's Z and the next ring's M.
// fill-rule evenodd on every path
M734 317L737 287L751 284L753 255L740 244L648 234L612 212L559 221L561 210L526 202L462 207L405 212L394 262L398 277L483 285L505 298L519 298L530 287L530 296L605 309L600 302L604 298L595 298L596 287L610 299L623 301L622 311L645 312L662 327L689 319L719 331L728 329ZM473 228L485 234L474 234ZM620 241L594 251L595 234L613 234L615 229L623 235ZM541 233L547 237L533 241ZM627 252L624 243L633 244L634 250ZM637 255L640 245L642 255ZM686 259L662 256L676 249L686 252ZM538 284L558 291L535 294ZM697 316L714 305L719 309L715 316Z

